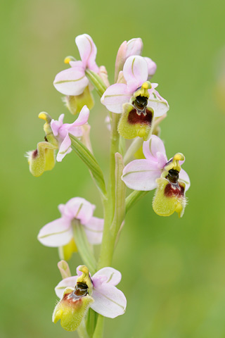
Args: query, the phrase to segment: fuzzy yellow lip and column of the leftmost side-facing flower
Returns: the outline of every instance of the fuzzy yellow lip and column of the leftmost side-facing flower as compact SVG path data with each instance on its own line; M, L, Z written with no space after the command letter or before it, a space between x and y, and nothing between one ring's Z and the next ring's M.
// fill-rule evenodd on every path
M58 149L57 139L51 130L51 116L48 113L39 113L39 118L45 120L44 132L45 141L37 144L37 149L28 151L26 156L30 168L30 173L34 177L41 176L44 171L52 170L55 166L55 152Z

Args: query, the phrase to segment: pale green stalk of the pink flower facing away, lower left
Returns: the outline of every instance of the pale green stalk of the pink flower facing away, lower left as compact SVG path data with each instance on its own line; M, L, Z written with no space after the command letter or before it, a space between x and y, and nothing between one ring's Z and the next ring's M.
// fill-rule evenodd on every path
M80 224L79 220L72 220L72 231L79 255L82 257L84 264L89 268L91 275L94 275L97 267L96 259L86 238L84 226Z

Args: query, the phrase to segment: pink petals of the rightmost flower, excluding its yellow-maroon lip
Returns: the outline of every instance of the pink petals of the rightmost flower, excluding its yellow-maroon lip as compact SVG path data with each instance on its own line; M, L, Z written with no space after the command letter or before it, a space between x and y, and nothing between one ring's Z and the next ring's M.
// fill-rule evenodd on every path
M152 135L148 141L143 142L143 154L146 159L134 160L128 163L122 174L122 180L127 187L134 190L148 191L157 187L158 179L165 166L172 160L167 160L165 146L160 139ZM179 161L183 164L184 161ZM190 187L190 179L183 169L179 172L179 181L184 182L186 191Z

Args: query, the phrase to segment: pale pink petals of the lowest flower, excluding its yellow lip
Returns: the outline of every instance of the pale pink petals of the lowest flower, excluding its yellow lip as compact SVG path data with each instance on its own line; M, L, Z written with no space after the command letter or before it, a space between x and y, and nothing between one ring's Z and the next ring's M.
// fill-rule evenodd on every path
M58 283L55 288L56 295L62 299L63 293L65 289L70 288L73 290L77 284L77 278L82 276L82 265L77 267L77 276L68 277ZM99 313L108 318L115 318L118 315L123 315L126 306L127 306L127 299L124 296L123 292L115 287L121 280L121 273L118 270L113 268L103 268L98 270L94 276L90 278L90 284L87 283L87 293L91 295L94 299L94 302L91 303L90 307ZM82 299L84 296L74 296L76 299ZM72 296L71 296L72 297Z

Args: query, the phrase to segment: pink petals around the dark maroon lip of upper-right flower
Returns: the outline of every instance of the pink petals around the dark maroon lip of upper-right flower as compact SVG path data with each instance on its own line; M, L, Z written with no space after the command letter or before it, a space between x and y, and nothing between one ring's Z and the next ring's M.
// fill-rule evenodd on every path
M124 63L123 76L126 83L116 83L105 90L101 103L113 113L122 113L123 105L131 103L131 98L144 82L148 80L149 72L153 73L150 59L142 56L129 56ZM147 108L152 108L155 118L164 115L169 110L165 99L155 90L158 84L152 83L148 89Z

